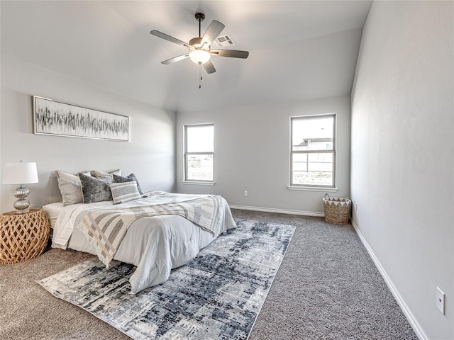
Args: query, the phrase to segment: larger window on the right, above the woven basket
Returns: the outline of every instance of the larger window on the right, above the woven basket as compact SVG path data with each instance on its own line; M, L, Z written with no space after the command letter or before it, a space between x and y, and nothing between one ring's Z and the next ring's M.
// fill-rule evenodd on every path
M336 115L290 118L290 186L335 185Z

